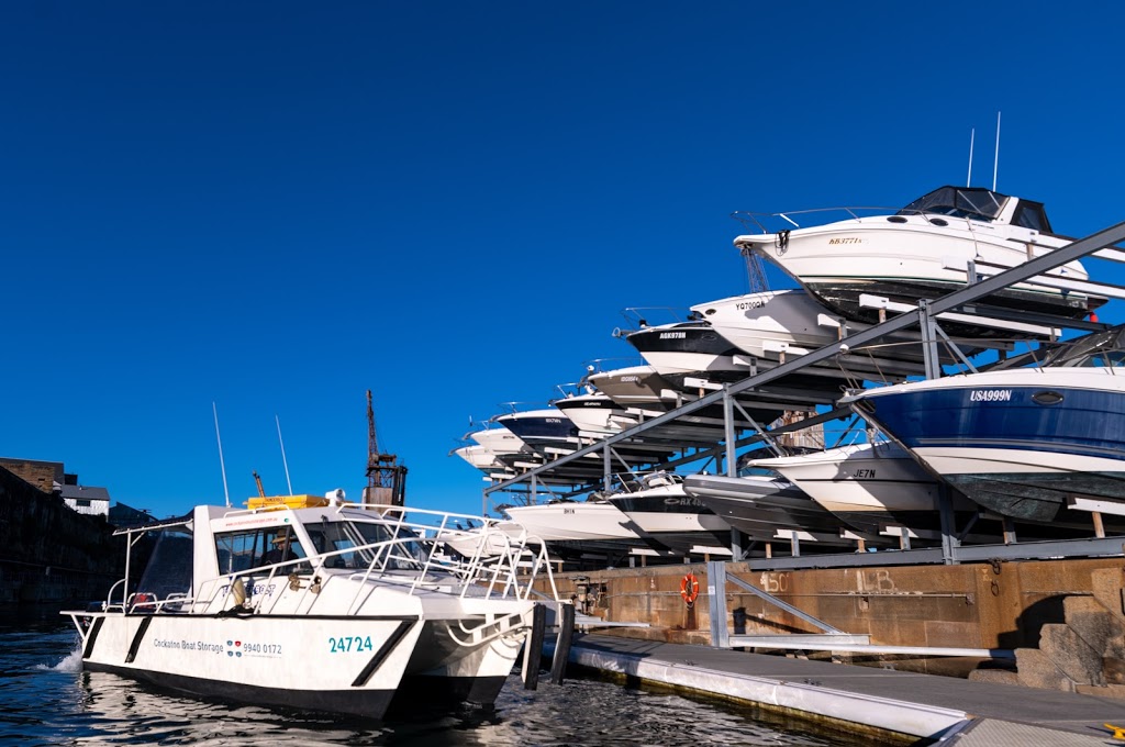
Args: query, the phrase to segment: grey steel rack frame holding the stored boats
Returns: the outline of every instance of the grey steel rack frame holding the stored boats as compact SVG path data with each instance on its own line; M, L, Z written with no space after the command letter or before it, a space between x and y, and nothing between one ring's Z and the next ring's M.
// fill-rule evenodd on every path
M717 461L722 459L726 466L726 474L730 477L736 477L736 452L738 449L756 442L765 442L767 446L773 444L774 436L838 420L850 412L848 407L835 406L829 412L819 413L796 423L766 431L747 415L742 406L745 400L739 399L740 395L759 395L768 402L773 398L771 393L768 390L756 392L758 387L801 371L814 363L837 362L843 368L850 351L857 351L900 330L917 327L920 331L926 378L938 378L942 376L938 345L943 342L952 348L956 357L960 358L961 362L970 371L976 370L968 358L961 354L956 345L953 344L948 335L942 330L940 322L943 321L969 322L998 330L1007 330L1016 334L1022 334L1025 339L1027 339L1027 335L1036 339L1035 335L1037 335L1040 341L1043 341L1043 339L1056 341L1058 335L1064 328L1086 332L1108 330L1112 325L1096 321L1080 321L991 307L987 310L981 309L981 314L987 314L987 317L984 317L978 314L973 304L998 290L1019 282L1055 290L1098 294L1110 299L1125 299L1125 287L1122 286L1086 280L1069 280L1043 274L1056 267L1088 255L1125 263L1125 251L1116 246L1122 241L1125 241L1125 223L1118 223L1090 234L1084 238L1076 240L1065 246L1029 259L1023 264L998 272L991 277L981 277L976 272L973 262L969 262L968 267L964 268L968 281L964 288L933 300L920 300L917 307L888 303L886 299L879 297L865 297L863 299L865 305L881 308L884 312L897 312L898 315L862 332L847 334L840 339L839 344L825 345L803 356L783 361L770 370L756 372L735 384L724 384L721 387L710 385L710 388L718 390L713 390L675 410L655 415L628 430L600 438L568 453L551 454L552 459L544 460L544 464L529 466L523 474L502 480L494 480L493 485L484 489L485 513L487 513L489 496L496 492L525 492L532 497L538 495L542 489L551 492L552 486L569 486L568 496L590 492L598 483L609 484L610 476L613 472L622 471L620 468L614 468L615 464L624 465L627 470L636 470L638 467L645 467L645 469L674 469L681 465L699 462L704 459L714 459ZM991 270L991 268L989 269ZM880 318L885 318L885 314L881 313ZM1004 356L1006 356L1006 352L1001 352L1001 360L1004 360ZM700 385L706 386L706 382L700 381ZM812 400L809 404L813 404ZM706 418L706 426L696 424L701 420L701 411L705 408L712 408L713 411L716 407L721 410L721 420ZM677 444L677 431L684 432L685 428L692 433L693 438L680 441L678 448L674 448L674 444ZM739 436L740 432L748 432L748 434ZM703 435L706 433L710 433L710 439ZM664 460L654 456L652 461L648 462L647 466L638 465L636 461L630 465L627 459L622 458L621 452L626 449L637 446L644 449L646 444L652 449L654 454L664 453L670 456ZM601 456L600 460L598 456ZM1125 503L1114 505L1110 502L1097 502L1096 505L1089 503L1087 505L1077 505L1076 507L1092 513L1091 524L1095 536L1090 538L1017 542L1015 534L1006 531L1006 540L1008 540L1006 543L978 546L961 544L947 488L943 488L939 503L942 506L942 546L939 548L909 549L909 544L907 543L903 546L902 551L898 552L800 556L799 548L794 544L792 557L749 559L742 549L741 540L744 538L740 538L739 533L732 530L731 550L734 560L747 560L755 570L768 570L891 564L958 564L994 559L1125 554L1125 537L1105 537L1101 530L1100 515L1097 513L1100 511L1125 514ZM1007 529L1008 526L1006 526Z

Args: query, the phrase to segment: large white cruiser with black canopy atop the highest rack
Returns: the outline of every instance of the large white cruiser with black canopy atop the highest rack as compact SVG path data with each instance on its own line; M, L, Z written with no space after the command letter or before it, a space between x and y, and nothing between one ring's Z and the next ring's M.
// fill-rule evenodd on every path
M831 213L848 217L776 232L767 226L778 218L796 225L796 219ZM996 274L1071 243L1053 233L1042 202L976 187L940 187L897 212L830 208L738 215L762 233L738 236L735 246L774 262L829 308L867 323L878 322L879 315L861 306L862 294L917 305L964 287L971 272ZM1058 284L1041 285L1059 279L1088 280L1088 274L1080 262L1068 262L981 304L1081 318L1106 302Z

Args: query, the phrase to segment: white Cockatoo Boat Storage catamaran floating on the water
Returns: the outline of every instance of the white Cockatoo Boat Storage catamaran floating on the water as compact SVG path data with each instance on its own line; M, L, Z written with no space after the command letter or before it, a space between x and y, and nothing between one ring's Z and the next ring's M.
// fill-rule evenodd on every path
M503 534L501 558L452 562L424 538L479 518L320 496L249 506L119 530L130 554L150 532L156 544L136 588L126 576L100 611L63 612L81 633L82 667L375 719L417 696L495 701L531 629L531 585L550 578L541 551ZM464 539L484 548L495 534Z

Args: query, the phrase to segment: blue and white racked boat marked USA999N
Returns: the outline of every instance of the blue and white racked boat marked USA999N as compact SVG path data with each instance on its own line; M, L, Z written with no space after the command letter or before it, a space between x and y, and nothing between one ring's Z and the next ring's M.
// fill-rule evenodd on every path
M1125 511L1125 369L986 371L870 389L847 402L1001 515L1053 521L1076 497Z

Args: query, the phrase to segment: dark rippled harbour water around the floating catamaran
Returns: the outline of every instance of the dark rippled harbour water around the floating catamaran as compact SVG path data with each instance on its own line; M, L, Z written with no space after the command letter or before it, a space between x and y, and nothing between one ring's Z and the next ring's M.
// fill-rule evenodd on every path
M197 700L81 672L78 637L54 611L0 616L0 744L11 745L870 745L749 708L593 678L523 688L495 709L349 721ZM546 680L546 674L544 674Z

